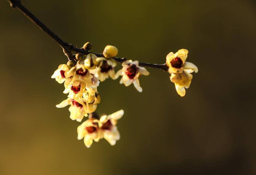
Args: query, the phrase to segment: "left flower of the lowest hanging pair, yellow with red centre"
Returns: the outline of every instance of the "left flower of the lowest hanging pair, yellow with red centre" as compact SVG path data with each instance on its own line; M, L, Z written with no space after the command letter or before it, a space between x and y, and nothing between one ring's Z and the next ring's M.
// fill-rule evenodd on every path
M84 141L87 148L91 147L93 140L98 142L99 120L88 119L77 127L77 139Z

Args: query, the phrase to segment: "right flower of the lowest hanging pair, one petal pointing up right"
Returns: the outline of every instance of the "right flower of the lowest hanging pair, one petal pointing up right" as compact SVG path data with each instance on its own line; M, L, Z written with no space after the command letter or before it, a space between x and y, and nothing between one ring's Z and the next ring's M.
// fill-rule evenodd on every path
M114 112L110 115L103 115L100 118L99 125L99 138L104 137L108 143L113 146L116 144L117 140L120 140L120 133L117 130L117 120L119 120L121 117L123 117L124 111L123 109Z

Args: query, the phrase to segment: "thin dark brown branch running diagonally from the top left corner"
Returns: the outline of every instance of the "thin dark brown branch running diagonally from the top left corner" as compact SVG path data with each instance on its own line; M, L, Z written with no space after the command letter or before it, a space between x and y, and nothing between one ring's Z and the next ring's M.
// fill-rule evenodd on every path
M44 31L46 34L48 34L49 37L51 37L53 40L55 40L56 43L58 43L61 48L63 49L63 52L65 55L68 57L69 60L74 60L73 55L71 54L71 51L76 52L76 53L83 53L84 55L88 55L89 53L94 53L87 51L83 48L77 48L73 46L72 44L68 44L67 42L63 41L58 35L56 35L53 31L51 31L44 23L42 23L33 13L31 13L26 7L24 7L21 4L20 0L7 0L11 7L19 9L25 16L27 16L32 22L34 22L42 31ZM104 57L103 54L101 53L94 53L97 57ZM126 58L119 58L119 57L114 57L114 59L118 63L122 63L123 61L127 60ZM166 64L150 64L150 63L143 63L139 62L139 66L143 67L152 67L156 69L160 69L163 71L168 70L168 66Z

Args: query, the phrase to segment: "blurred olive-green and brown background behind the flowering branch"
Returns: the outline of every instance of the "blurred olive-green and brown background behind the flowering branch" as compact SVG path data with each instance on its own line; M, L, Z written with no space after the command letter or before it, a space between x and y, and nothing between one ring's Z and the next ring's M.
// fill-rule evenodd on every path
M77 140L64 86L51 79L62 49L0 2L0 174L256 174L255 1L29 1L23 5L68 43L106 45L119 57L165 62L178 49L199 68L186 96L149 69L143 92L100 83L99 114L124 109L120 141ZM116 71L121 68L120 65Z

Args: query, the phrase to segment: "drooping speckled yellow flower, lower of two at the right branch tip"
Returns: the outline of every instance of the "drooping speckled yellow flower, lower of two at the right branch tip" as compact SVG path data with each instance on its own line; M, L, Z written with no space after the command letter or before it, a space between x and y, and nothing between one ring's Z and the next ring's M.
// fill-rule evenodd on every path
M175 84L176 91L180 96L185 96L185 93L186 93L185 88L189 88L189 85L193 78L191 74L192 72L193 72L192 69L188 69L188 70L183 70L182 73L171 74L170 80Z

